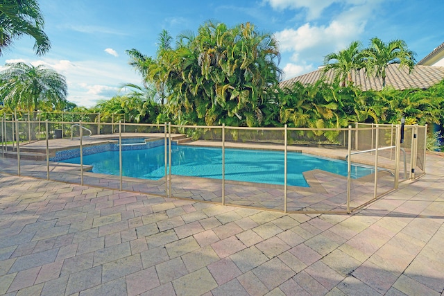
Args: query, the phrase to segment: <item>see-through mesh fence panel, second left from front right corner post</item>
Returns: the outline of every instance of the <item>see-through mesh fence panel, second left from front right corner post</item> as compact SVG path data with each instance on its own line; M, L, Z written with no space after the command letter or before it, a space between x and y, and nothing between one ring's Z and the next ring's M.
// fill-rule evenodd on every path
M282 128L225 128L225 203L284 210Z

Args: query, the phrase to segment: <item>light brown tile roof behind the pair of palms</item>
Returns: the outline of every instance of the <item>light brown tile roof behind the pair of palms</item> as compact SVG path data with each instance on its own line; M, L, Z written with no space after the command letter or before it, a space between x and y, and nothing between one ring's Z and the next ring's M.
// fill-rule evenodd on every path
M302 84L314 84L321 75L323 74L323 69L318 69L316 71L291 78L280 82L280 87L291 87L294 82L300 81ZM334 70L329 70L325 73L326 81L332 82L334 77ZM409 89L409 88L420 88L427 89L432 85L440 82L444 79L444 67L431 67L416 65L415 68L409 73L407 67L399 67L398 64L389 64L386 68L386 86L391 86L395 89ZM361 87L362 90L381 90L382 89L382 79L375 78L373 76L367 77L364 73L364 69L361 71L352 73L352 80L355 85Z

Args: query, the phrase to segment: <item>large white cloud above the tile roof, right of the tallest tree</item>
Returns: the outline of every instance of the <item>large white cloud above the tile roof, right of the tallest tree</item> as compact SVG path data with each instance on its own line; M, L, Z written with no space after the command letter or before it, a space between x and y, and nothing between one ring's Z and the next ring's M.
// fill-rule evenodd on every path
M302 1L267 0L276 8L291 8L302 6ZM289 53L289 60L284 61L285 78L289 79L307 71L312 71L323 64L323 58L328 53L344 49L350 42L361 40L368 20L373 16L382 0L344 0L349 8L339 15L332 15L330 21L318 25L306 22L302 26L286 28L275 33L280 43L282 53ZM313 6L309 1L305 6ZM319 1L327 7L335 1ZM317 3L317 2L316 2ZM330 4L329 4L330 3ZM314 66L313 66L314 65Z

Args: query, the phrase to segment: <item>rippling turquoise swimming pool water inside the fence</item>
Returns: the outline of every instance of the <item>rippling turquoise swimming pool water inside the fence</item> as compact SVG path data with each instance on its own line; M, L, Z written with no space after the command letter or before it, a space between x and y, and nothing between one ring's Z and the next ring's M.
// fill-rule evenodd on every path
M314 157L302 153L287 153L287 184L309 185L302 172L320 169L347 175L347 162ZM80 164L80 157L62 162ZM83 164L92 166L93 173L119 175L119 151L86 155ZM143 150L122 151L123 176L158 180L164 177L164 146ZM172 146L171 173L195 177L222 178L222 149L195 146ZM352 166L352 177L373 173L369 168ZM225 148L225 180L284 184L284 152Z

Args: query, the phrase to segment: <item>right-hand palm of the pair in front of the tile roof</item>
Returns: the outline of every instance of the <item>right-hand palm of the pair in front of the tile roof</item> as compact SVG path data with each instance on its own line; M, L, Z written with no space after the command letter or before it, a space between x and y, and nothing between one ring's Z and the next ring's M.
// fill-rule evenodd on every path
M382 78L382 87L386 86L386 68L389 64L400 64L400 67L409 67L413 70L416 53L410 51L403 40L382 42L378 37L370 39L366 55L366 71Z

